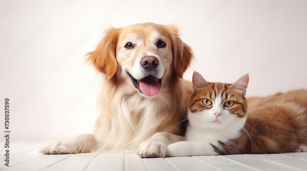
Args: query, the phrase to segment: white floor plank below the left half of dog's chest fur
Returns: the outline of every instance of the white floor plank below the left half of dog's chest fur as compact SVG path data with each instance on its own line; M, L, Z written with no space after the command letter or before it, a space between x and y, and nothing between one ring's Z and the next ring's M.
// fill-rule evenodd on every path
M97 153L98 154L98 153ZM86 170L114 170L122 171L124 168L124 154L100 153L87 166Z

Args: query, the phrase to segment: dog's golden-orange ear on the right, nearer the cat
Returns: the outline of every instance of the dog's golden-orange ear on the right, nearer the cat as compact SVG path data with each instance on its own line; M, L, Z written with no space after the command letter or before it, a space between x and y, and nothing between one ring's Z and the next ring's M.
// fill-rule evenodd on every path
M176 26L168 26L167 30L172 40L174 71L178 77L182 78L194 58L194 53L192 48L182 41Z

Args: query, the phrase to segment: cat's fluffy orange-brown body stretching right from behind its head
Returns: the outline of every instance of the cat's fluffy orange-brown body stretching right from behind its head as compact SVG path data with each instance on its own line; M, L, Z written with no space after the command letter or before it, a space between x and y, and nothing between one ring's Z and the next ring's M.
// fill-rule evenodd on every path
M307 90L292 90L266 97L247 98L249 132L237 142L235 154L261 154L306 151ZM252 129L253 128L253 129Z

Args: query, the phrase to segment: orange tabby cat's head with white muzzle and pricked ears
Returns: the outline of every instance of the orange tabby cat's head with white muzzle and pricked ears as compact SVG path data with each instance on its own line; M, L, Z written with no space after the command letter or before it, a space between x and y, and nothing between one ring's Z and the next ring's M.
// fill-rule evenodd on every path
M189 122L206 129L240 129L246 121L245 93L249 76L243 75L233 84L207 82L194 71L193 95L189 101Z

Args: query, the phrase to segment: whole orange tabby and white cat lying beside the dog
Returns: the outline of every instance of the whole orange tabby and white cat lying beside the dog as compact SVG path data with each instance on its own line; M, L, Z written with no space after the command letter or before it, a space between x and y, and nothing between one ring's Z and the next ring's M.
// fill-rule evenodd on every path
M166 157L307 152L307 90L245 98L248 82L207 82L194 71L185 141Z

